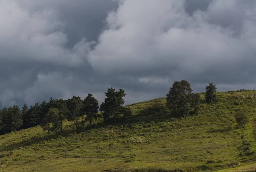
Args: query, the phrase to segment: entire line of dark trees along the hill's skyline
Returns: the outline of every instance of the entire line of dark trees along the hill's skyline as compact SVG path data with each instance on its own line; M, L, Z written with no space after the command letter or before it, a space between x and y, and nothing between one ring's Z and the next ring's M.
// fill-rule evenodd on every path
M166 107L172 116L197 115L200 112L201 97L198 93L192 93L192 88L186 80L175 81L166 95ZM207 103L217 102L216 86L210 83L206 87L205 99ZM105 101L99 106L97 99L91 93L84 100L79 96L71 99L49 99L41 103L36 102L30 107L24 104L20 108L17 105L3 107L0 110L0 134L10 133L20 129L26 129L40 125L49 133L56 134L63 131L65 120L73 121L78 130L79 126L92 125L97 118L103 118L105 124L117 122L120 118L131 116L131 109L124 107L125 97L123 89L108 88L105 92ZM101 113L99 113L101 111Z

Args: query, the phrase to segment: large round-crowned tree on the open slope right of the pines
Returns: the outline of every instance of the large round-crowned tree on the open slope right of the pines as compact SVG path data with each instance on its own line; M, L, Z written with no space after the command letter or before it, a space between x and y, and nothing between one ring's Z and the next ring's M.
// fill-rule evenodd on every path
M192 89L186 80L175 81L166 95L166 105L177 116L186 116L191 110Z

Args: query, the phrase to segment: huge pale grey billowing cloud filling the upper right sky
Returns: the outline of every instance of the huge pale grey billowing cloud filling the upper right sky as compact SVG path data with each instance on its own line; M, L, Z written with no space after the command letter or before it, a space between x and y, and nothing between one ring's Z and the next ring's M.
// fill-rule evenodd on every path
M243 5L247 23L240 23L241 33L234 36L236 30L224 27L223 18L216 17L221 2L215 0L207 11L196 11L189 16L184 10L184 1L125 1L117 12L108 15L109 28L100 35L99 44L89 53L89 62L95 70L109 73L143 69L148 75L154 75L156 69L161 69L169 71L169 77L172 77L174 66L178 66L175 72L186 78L208 77L216 73L218 77L224 75L224 79L214 79L216 82L233 82L234 79L244 82L241 72L245 69L237 69L241 62L250 64L255 53L255 36L251 34L255 6L251 1ZM221 7L230 8L227 4L239 7L240 3L225 1L227 7ZM133 8L132 14L128 13L134 4L137 8ZM139 15L141 13L143 15ZM212 16L214 20L219 18L220 23L211 23ZM233 78L234 73L241 74ZM233 79L229 81L229 77Z

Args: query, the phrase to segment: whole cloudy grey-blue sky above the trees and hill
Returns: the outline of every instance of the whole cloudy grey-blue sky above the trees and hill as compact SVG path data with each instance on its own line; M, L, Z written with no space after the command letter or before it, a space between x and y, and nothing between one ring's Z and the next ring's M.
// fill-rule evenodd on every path
M0 0L0 105L256 89L255 0Z

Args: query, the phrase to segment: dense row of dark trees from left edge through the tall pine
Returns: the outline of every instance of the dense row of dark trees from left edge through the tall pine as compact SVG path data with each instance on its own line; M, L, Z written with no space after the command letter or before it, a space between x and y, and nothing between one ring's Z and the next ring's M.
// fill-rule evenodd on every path
M123 107L124 90L115 91L109 88L106 94L105 102L102 103L100 110L103 111L104 122L108 124L111 120L116 121L120 116L131 115L131 110ZM73 121L76 131L81 124L93 121L101 117L98 114L99 102L88 94L84 100L79 96L73 96L71 99L49 99L41 103L36 102L30 107L24 104L18 106L3 107L0 110L0 134L10 133L12 131L26 129L40 125L49 133L59 133L63 131L63 122L65 120Z

